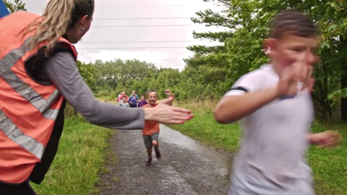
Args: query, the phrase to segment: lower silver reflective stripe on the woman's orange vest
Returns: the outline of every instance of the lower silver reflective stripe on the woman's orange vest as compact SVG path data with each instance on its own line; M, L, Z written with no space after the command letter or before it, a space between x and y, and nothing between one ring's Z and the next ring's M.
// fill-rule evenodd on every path
M13 142L22 146L32 155L38 159L42 158L45 146L34 138L23 134L2 110L0 110L0 130Z

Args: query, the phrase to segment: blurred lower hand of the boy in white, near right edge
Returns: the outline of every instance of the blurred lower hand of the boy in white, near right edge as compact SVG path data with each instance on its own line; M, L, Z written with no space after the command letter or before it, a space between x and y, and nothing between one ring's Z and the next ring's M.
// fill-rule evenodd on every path
M339 144L342 141L342 136L336 131L328 130L321 133L309 134L308 139L312 144L320 147L330 147Z

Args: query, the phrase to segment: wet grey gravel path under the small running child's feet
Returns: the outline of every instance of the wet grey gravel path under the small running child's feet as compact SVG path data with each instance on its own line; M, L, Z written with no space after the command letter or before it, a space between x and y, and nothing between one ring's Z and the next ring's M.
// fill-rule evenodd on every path
M119 130L112 140L116 165L107 165L99 193L201 195L226 194L232 154L209 147L160 125L162 160L145 166L147 152L142 130Z

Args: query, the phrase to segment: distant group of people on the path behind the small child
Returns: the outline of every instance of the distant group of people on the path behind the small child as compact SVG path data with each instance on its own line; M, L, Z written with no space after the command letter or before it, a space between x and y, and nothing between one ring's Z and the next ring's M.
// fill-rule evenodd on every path
M122 91L118 95L117 102L119 106L130 107L130 108L136 108L136 107L141 108L142 106L148 104L148 102L146 101L145 95L141 95L139 99L135 90L132 90L130 97L126 95L125 91Z

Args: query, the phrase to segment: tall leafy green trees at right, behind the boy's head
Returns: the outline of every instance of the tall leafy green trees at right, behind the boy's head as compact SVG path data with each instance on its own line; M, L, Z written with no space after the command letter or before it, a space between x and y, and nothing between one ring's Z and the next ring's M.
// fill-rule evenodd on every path
M204 0L207 1L207 0ZM246 72L267 62L262 44L268 37L273 16L284 9L297 9L308 14L321 29L321 60L315 69L316 85L313 93L315 107L324 119L332 114L331 106L340 105L343 120L347 118L347 68L346 68L346 24L347 3L343 0L321 1L214 1L224 6L224 15L206 10L198 12L197 23L223 26L227 30L219 33L196 33L197 38L209 38L223 43L216 48L193 46L196 53L186 60L188 67L206 65L220 67L225 71L225 86L231 86ZM225 69L223 69L225 67ZM221 80L223 82L223 80ZM335 107L334 107L335 106Z

